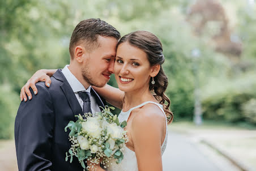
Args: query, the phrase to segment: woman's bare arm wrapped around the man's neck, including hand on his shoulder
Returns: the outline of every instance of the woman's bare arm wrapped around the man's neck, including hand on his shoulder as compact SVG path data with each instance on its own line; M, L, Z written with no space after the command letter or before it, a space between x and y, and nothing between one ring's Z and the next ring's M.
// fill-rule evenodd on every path
M32 99L32 94L29 91L29 87L33 89L35 95L37 94L37 88L35 85L37 82L45 82L45 85L47 87L50 87L50 76L52 76L56 71L56 69L36 71L36 73L32 75L28 82L22 87L20 91L20 100L27 101L27 95L29 100ZM122 99L124 93L120 89L109 86L108 84L101 88L93 86L93 89L95 89L95 91L99 93L100 96L102 96L107 102L109 102L109 104L112 104L113 106L122 109Z

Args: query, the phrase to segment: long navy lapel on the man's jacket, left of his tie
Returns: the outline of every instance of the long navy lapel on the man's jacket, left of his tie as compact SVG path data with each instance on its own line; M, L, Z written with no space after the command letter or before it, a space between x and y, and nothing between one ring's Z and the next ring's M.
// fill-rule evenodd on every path
M78 102L78 99L76 99L75 93L73 92L72 88L70 87L69 82L67 82L67 79L65 78L65 76L62 74L62 71L58 69L53 76L54 76L54 78L61 80L63 82L61 84L61 89L62 89L63 93L65 94L67 101L69 101L69 105L72 109L74 116L79 113L83 114L83 110Z

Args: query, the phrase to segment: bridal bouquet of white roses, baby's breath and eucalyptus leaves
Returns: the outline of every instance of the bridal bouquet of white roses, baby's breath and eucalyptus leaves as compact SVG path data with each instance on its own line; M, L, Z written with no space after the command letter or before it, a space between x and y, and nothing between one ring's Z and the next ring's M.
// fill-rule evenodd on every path
M77 157L84 169L93 168L93 164L103 164L104 168L109 166L111 159L120 163L123 159L123 147L128 142L126 131L123 128L126 121L120 123L117 115L110 112L112 106L105 106L100 113L80 114L76 122L70 121L65 127L70 129L69 140L72 143L69 154L66 152L66 161L72 163L73 156ZM85 118L85 119L84 119ZM86 165L87 160L91 165Z

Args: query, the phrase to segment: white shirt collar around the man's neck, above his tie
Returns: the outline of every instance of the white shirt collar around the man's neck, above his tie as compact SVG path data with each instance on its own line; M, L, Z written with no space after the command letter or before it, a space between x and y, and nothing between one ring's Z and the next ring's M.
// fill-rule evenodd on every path
M67 82L69 82L70 87L72 88L73 92L79 92L79 91L86 91L91 92L91 86L89 86L87 89L84 88L83 84L79 82L79 80L70 72L69 65L66 65L63 70L62 74L67 79Z

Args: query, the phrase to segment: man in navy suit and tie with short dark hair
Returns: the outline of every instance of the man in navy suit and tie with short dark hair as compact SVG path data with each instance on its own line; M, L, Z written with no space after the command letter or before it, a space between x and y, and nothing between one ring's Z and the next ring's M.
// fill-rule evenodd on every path
M91 86L103 87L113 73L120 33L100 19L76 25L70 39L70 65L51 77L51 86L36 84L33 100L22 101L15 119L15 144L20 171L83 170L78 159L65 161L75 115L100 112L104 106ZM32 92L32 89L30 89Z

